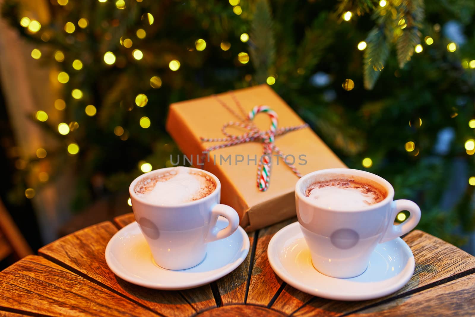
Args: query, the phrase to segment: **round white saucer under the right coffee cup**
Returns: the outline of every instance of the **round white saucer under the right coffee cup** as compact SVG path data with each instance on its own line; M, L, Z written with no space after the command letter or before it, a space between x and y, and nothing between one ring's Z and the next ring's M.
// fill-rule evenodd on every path
M414 273L414 255L401 238L377 245L368 269L355 278L323 275L312 265L298 222L278 231L267 249L269 263L287 284L305 293L336 300L366 300L402 288Z

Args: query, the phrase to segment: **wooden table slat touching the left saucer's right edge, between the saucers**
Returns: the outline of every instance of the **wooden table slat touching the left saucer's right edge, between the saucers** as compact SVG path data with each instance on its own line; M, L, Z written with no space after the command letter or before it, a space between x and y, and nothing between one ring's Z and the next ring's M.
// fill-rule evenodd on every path
M250 232L247 235L252 248L254 232ZM249 250L246 259L237 267L237 269L216 281L223 305L244 304L251 253L252 250Z

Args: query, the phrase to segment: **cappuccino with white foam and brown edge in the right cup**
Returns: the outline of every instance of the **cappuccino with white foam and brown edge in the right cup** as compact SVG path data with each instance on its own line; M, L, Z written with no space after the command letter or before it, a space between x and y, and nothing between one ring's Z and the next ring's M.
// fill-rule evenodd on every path
M381 186L364 179L329 179L310 184L305 196L318 205L335 210L365 208L382 202L387 192Z

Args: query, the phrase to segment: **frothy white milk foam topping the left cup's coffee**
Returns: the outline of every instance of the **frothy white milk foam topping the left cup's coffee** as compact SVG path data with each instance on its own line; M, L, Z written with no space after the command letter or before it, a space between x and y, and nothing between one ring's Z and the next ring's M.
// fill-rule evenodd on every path
M190 174L189 171L183 166L175 167L165 181L158 181L151 190L137 194L147 202L159 205L190 202L206 196L202 195L203 189L209 186L205 176ZM147 181L150 183L152 179L145 180L145 185Z

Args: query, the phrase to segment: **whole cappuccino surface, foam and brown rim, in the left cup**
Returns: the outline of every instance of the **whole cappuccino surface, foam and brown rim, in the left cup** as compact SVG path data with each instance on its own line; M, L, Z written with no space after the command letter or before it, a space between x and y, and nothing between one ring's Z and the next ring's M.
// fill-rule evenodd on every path
M147 202L172 205L199 200L215 189L216 182L208 174L178 166L164 173L145 174L134 191Z

